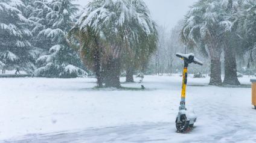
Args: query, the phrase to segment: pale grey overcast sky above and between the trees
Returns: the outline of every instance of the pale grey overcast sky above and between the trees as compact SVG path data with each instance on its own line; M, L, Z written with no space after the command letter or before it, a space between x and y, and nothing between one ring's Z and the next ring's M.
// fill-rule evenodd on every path
M77 3L83 7L90 0L78 0ZM197 0L144 0L150 9L153 19L158 25L172 28L176 23L184 17L189 10L189 6L193 5Z

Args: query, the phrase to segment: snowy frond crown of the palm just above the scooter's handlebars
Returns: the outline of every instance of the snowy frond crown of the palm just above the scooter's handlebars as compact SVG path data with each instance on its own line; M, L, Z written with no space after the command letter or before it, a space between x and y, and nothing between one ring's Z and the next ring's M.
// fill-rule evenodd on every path
M202 40L207 44L210 38L219 37L222 28L231 30L232 22L225 18L227 5L225 0L200 0L193 5L182 27L182 41L201 47Z

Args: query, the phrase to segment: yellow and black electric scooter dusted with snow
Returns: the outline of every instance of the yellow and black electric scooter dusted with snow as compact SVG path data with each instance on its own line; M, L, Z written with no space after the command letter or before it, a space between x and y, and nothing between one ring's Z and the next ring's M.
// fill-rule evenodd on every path
M194 53L189 53L189 54L176 53L176 56L184 60L184 69L183 69L181 102L179 106L178 116L175 122L176 122L177 132L184 133L184 132L188 132L191 128L193 128L194 123L196 122L196 119L197 119L196 115L188 114L187 109L185 107L188 65L191 63L203 65L203 63L199 59L194 57Z

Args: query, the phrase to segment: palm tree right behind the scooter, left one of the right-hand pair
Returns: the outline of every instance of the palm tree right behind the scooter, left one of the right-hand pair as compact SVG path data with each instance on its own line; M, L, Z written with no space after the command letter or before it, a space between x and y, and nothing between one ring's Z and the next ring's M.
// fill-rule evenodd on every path
M228 1L223 0L200 0L190 8L181 30L181 39L188 47L196 47L210 56L210 85L222 85L222 22L225 21L227 5Z

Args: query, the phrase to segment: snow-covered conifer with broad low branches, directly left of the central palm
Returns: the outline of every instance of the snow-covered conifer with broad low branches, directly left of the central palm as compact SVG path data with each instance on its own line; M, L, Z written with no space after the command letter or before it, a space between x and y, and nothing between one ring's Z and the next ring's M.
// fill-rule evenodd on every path
M37 3L43 9L38 10L35 15L41 16L38 18L38 22L42 22L39 25L46 28L39 32L37 40L50 40L51 48L47 55L37 59L39 68L35 75L48 78L76 78L79 75L86 75L87 73L80 68L82 64L77 52L66 40L66 34L74 23L73 16L78 11L78 5L68 0Z

